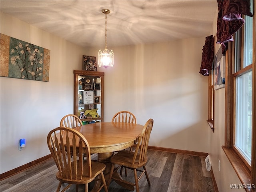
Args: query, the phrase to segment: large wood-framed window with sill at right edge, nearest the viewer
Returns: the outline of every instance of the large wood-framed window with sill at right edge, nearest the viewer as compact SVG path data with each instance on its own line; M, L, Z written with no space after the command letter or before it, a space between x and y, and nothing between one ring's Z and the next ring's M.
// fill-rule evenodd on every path
M255 8L251 0L251 10ZM251 186L245 190L256 191L256 72L255 29L256 20L245 16L245 23L228 45L226 81L226 122L224 152L234 167L242 184ZM254 118L253 118L254 117Z

